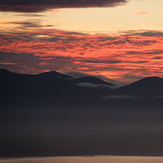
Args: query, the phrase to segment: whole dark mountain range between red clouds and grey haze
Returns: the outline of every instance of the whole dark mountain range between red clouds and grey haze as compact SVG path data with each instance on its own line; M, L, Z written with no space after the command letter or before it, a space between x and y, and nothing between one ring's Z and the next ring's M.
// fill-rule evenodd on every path
M74 78L55 71L36 75L18 74L0 69L1 103L96 104L109 97L163 96L163 79L146 77L116 87L94 76ZM106 98L107 97L107 98Z

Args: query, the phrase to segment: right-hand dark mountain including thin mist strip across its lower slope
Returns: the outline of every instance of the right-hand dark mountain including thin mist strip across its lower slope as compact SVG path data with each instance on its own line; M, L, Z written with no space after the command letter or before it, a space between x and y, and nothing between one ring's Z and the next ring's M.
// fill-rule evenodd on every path
M163 107L163 79L146 77L129 85L114 89L108 93L119 97L120 105L137 105L153 108ZM112 99L112 102L117 99Z

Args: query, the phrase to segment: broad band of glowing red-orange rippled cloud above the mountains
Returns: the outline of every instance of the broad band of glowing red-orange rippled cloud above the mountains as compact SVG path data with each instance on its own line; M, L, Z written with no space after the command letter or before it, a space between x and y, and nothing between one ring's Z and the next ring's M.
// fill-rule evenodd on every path
M119 36L43 29L3 33L0 68L21 73L74 70L130 82L163 77L162 47L162 31L125 31Z

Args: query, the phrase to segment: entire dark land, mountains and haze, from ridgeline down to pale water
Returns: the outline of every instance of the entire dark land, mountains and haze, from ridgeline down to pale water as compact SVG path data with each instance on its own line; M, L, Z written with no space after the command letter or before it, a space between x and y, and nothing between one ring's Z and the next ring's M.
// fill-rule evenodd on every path
M158 77L118 88L93 76L1 69L0 157L163 155L162 98Z

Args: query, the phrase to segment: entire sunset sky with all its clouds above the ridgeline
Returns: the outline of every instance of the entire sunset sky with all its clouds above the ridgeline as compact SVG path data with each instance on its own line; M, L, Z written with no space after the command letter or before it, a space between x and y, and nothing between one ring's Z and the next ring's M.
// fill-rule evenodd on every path
M1 0L0 68L163 77L162 0Z

